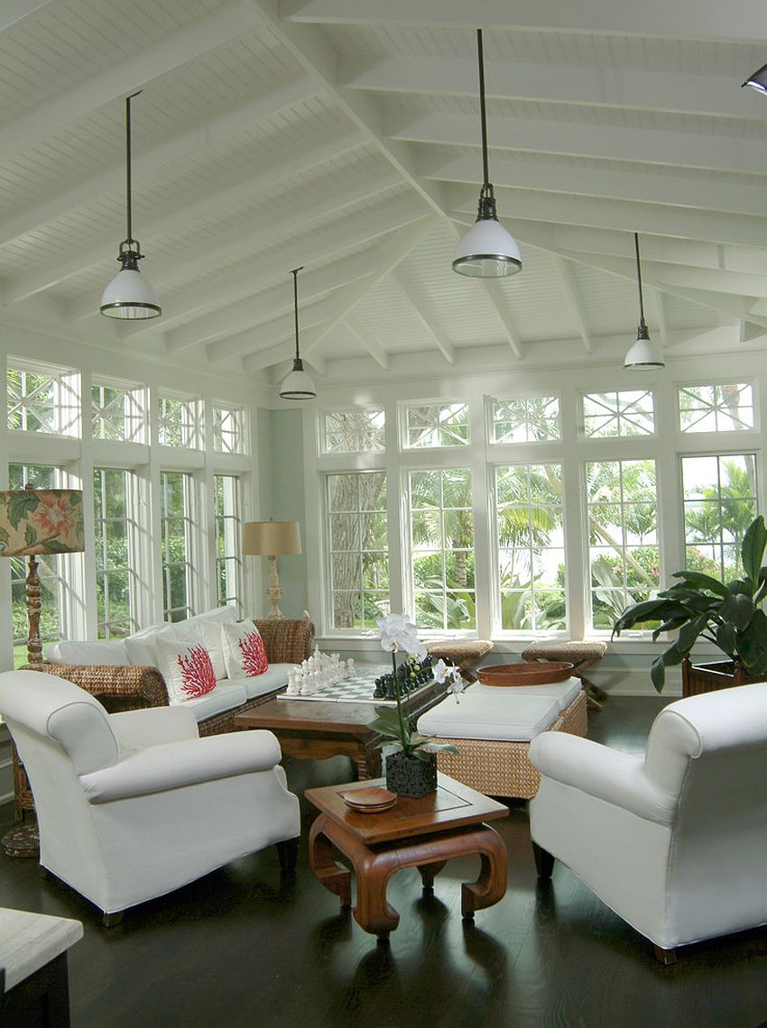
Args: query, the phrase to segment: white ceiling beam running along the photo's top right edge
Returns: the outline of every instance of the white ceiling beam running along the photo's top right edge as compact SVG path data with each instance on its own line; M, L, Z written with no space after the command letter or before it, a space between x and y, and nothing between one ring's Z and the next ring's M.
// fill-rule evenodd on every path
M449 29L574 33L594 36L719 39L739 43L767 42L767 23L760 4L750 0L711 4L669 4L667 0L279 0L280 16L296 23L430 27ZM648 31L651 25L652 31Z

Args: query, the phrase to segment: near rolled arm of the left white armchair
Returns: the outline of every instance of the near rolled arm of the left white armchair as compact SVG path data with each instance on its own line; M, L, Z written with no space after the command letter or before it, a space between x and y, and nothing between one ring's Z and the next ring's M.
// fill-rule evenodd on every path
M280 743L271 732L233 732L149 746L111 767L80 775L80 782L89 803L110 803L269 771L281 756Z

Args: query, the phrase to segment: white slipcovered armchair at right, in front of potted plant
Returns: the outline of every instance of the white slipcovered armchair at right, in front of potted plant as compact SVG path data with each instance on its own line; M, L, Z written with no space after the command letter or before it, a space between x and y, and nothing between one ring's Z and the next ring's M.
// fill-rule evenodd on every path
M670 703L644 755L545 732L529 759L539 875L560 859L664 963L767 923L767 684Z

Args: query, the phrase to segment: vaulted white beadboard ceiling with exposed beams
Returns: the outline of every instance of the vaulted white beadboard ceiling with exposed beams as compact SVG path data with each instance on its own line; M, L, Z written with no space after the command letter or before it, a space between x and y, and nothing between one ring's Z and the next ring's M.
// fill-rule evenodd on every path
M490 178L523 270L450 270ZM767 61L751 0L3 0L0 322L318 384L767 335ZM98 313L134 232L161 318ZM490 362L492 363L492 362Z

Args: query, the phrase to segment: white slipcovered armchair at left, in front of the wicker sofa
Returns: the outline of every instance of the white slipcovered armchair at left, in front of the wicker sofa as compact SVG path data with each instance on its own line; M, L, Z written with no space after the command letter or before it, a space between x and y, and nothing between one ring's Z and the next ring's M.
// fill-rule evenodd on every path
M0 712L32 784L40 865L105 923L270 843L294 860L298 800L271 732L200 739L183 706L109 714L38 671L0 674Z

